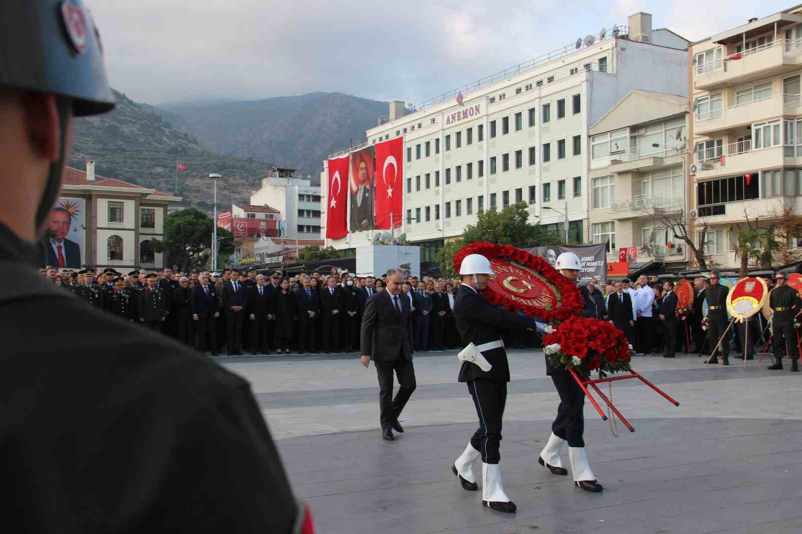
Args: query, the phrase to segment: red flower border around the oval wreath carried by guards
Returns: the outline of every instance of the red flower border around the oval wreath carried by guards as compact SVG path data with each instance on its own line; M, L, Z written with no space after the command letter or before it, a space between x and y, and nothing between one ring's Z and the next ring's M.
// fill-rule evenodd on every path
M462 265L464 257L468 256L468 254L481 254L488 260L506 258L509 261L525 265L525 267L540 273L542 277L554 285L561 297L561 305L557 309L545 309L540 306L521 304L502 293L496 293L492 289L485 289L484 297L492 305L504 306L504 308L512 312L520 311L529 315L529 317L539 318L545 322L565 321L567 318L581 314L582 309L585 307L582 301L582 294L577 286L573 285L573 282L569 281L568 278L557 273L557 270L542 257L534 256L512 245L493 245L492 243L479 241L465 245L460 249L460 252L456 253L454 256L454 269L456 269L457 273L460 272L460 265Z

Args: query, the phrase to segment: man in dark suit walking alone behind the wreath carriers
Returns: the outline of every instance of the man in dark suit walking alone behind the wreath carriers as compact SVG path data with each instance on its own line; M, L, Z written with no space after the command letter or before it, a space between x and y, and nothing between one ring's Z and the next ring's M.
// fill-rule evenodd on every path
M383 439L389 441L395 439L393 430L403 432L399 415L415 391L412 322L409 301L400 296L402 284L399 269L387 271L387 288L368 299L360 330L362 365L367 368L373 360L379 375L379 423ZM395 398L393 371L399 381Z

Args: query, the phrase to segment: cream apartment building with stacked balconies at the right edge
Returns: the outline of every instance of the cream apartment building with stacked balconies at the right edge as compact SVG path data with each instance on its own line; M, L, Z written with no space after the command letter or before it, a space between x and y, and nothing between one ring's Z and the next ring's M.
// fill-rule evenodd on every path
M802 6L691 44L690 225L735 267L735 228L802 212ZM796 240L789 240L795 247Z

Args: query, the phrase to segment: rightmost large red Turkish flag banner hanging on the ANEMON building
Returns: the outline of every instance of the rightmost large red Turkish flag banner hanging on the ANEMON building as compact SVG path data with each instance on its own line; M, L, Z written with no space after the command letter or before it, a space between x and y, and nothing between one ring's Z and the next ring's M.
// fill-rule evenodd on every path
M376 144L376 228L401 226L403 212L403 137Z

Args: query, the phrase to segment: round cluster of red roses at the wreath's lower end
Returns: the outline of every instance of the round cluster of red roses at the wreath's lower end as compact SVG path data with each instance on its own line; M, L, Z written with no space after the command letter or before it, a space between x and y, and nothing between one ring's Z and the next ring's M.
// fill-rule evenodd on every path
M559 347L549 350L554 343ZM545 335L543 346L557 368L581 367L611 373L630 369L630 345L626 335L601 319L570 318Z

